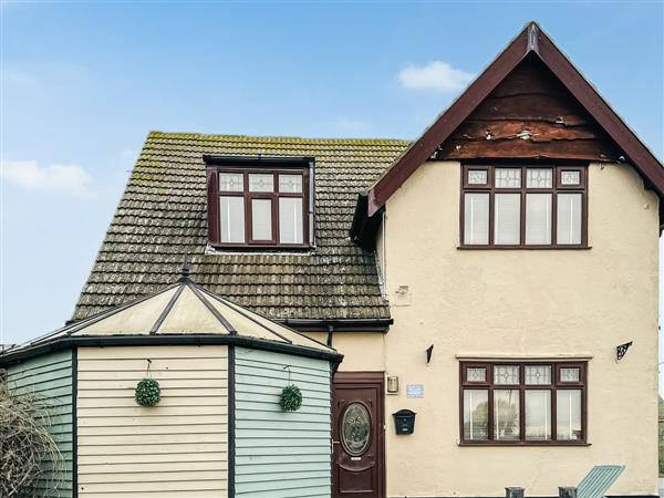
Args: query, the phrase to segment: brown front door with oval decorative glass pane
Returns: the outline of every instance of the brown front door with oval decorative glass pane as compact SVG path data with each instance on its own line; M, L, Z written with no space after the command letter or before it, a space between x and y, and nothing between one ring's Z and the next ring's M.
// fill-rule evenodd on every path
M338 372L332 405L332 496L385 496L383 372Z

